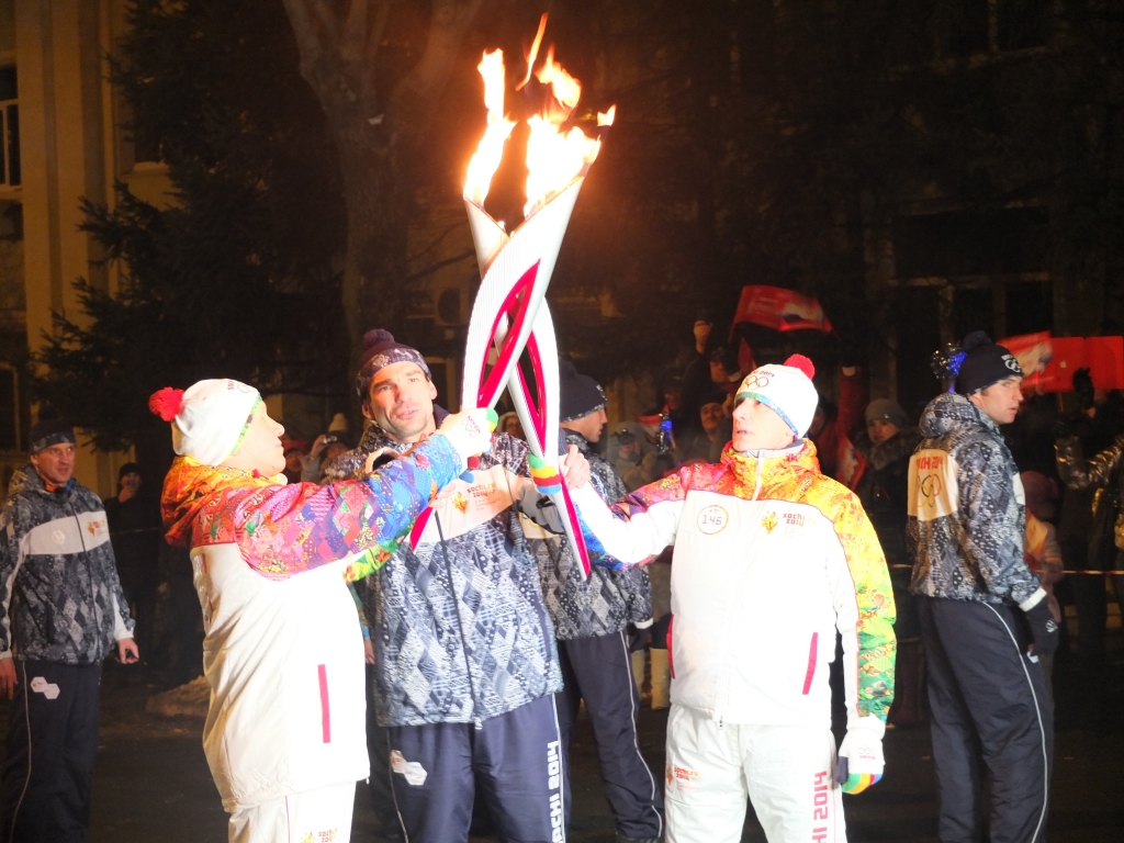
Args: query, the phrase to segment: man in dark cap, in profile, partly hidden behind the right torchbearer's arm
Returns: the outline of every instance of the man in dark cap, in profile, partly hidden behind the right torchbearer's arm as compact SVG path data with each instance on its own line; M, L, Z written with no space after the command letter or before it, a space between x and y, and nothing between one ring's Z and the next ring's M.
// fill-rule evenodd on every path
M620 477L592 447L608 420L605 391L569 361L559 369L559 415L566 445L577 446L589 461L590 482L601 498L620 500L627 493ZM534 528L524 527L528 536ZM542 538L533 542L533 550L562 662L563 688L555 698L566 758L578 706L586 700L617 841L654 843L663 834L663 794L640 754L640 694L629 655L637 631L652 626L647 570L595 566L587 580L563 538L551 541L545 533ZM569 764L565 769L569 772Z

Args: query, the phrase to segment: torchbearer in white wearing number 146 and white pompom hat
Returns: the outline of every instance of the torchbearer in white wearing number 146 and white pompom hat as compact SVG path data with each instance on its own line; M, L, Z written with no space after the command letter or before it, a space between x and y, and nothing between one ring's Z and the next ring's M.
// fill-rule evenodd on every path
M733 439L611 511L573 492L590 556L629 565L673 545L667 841L736 843L745 799L770 843L844 841L843 792L882 774L894 698L894 595L859 500L804 438L812 362L764 365L736 393ZM836 753L827 665L843 636L847 732Z

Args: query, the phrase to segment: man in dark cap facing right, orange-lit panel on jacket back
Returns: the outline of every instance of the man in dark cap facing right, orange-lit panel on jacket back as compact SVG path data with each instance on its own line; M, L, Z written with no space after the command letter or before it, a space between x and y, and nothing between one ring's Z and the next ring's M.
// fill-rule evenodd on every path
M1058 619L1023 561L1025 505L999 433L1023 372L986 334L966 337L957 393L930 402L909 462L910 591L928 658L943 843L981 837L985 764L992 843L1045 839L1053 713L1039 655Z

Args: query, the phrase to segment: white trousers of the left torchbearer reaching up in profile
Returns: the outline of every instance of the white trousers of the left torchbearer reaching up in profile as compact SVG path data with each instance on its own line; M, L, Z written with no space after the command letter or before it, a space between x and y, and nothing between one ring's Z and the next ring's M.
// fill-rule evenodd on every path
M271 799L230 815L230 843L348 843L355 782Z

